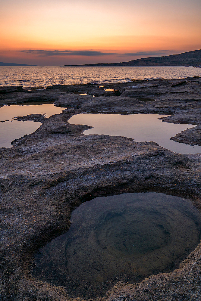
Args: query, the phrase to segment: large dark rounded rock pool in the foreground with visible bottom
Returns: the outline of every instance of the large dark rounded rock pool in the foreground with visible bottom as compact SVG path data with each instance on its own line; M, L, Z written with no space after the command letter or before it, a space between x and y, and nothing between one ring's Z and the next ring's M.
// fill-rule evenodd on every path
M200 241L188 200L159 193L97 197L75 209L71 228L41 248L33 275L70 296L103 296L117 281L169 272Z

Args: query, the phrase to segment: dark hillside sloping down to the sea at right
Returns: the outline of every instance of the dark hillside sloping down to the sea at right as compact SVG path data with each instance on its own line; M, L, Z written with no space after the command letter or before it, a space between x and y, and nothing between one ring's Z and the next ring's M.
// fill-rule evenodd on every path
M201 66L201 49L184 52L181 54L172 54L164 57L146 57L135 61L111 64L85 64L85 65L64 65L60 67L99 67L99 66L125 66L125 67L143 67L143 66Z

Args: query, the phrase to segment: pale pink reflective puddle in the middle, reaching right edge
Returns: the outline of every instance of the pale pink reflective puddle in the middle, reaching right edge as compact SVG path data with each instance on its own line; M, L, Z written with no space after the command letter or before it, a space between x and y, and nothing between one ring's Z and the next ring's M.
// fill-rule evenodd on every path
M170 140L177 133L195 125L167 123L158 119L165 116L169 115L78 114L72 116L68 122L93 126L93 129L83 132L85 135L123 136L133 138L136 142L154 141L160 146L179 154L201 153L201 147L198 145L192 146Z

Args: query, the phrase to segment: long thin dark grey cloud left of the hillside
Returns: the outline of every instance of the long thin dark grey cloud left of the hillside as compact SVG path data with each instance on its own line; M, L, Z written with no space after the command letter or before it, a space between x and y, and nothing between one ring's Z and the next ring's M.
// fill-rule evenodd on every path
M30 54L38 54L39 56L67 56L67 55L82 55L82 56L103 56L103 55L111 55L116 53L108 53L101 51L72 51L72 50L20 50L20 52L30 53Z

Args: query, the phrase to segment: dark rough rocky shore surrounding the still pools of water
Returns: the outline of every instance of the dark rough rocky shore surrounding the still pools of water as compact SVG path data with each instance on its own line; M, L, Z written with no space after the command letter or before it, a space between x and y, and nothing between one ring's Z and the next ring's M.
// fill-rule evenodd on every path
M2 93L0 88L0 105L54 101L67 109L45 120L38 116L44 121L39 129L16 139L9 149L0 148L0 300L73 300L65 287L39 281L32 270L37 250L68 231L72 211L85 200L160 192L191 200L201 213L201 154L176 154L154 142L125 137L85 136L89 126L68 123L78 113L169 114L162 121L196 125L171 139L201 146L201 78L16 89ZM37 116L21 120L28 118ZM96 300L197 301L200 259L201 244L173 272L138 284L118 282Z

